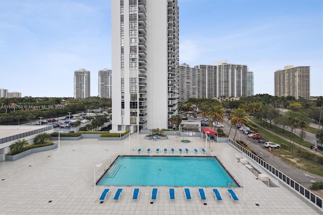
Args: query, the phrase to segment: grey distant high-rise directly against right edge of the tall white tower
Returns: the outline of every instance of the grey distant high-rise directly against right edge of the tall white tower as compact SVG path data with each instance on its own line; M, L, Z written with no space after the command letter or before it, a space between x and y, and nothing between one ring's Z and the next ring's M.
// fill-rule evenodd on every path
M200 69L192 68L186 63L179 66L178 86L179 101L187 102L189 98L200 98Z

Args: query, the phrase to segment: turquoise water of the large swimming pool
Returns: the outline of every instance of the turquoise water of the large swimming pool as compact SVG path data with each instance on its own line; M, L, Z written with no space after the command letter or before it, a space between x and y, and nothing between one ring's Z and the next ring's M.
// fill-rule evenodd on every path
M234 182L214 157L122 156L113 165L120 165L115 175L107 170L97 185L226 187Z

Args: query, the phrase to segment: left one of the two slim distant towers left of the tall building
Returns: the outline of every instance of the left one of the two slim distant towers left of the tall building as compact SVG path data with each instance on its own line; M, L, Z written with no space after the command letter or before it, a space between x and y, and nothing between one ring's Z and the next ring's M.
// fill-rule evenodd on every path
M90 71L81 68L74 71L74 98L83 99L90 97Z

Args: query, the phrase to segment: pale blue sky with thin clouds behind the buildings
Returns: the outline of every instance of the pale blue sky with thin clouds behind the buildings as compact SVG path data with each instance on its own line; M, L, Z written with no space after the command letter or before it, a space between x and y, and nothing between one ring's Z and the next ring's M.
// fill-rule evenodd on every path
M0 88L73 97L74 71L111 68L111 1L1 0ZM149 1L149 0L147 0ZM274 72L311 67L323 96L323 1L179 0L180 63L228 60L254 72L254 93L274 95Z

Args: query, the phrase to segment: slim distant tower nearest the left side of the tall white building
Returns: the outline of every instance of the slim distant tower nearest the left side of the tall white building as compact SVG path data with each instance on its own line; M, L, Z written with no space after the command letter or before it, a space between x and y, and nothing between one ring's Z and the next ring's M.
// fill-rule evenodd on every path
M98 97L112 98L112 70L103 68L98 71Z

